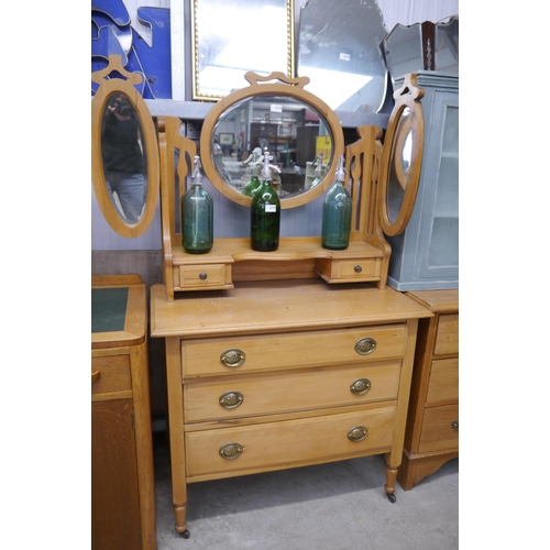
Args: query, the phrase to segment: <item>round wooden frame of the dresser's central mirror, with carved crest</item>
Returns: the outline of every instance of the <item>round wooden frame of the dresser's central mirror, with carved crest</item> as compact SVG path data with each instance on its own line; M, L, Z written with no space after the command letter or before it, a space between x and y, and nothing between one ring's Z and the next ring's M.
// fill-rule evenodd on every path
M218 101L218 103L216 103L216 106L205 118L202 130L200 132L200 160L202 162L202 169L205 170L205 174L208 177L209 182L223 196L228 197L233 202L250 207L252 198L242 195L240 191L228 185L218 174L218 170L216 169L216 166L213 164L211 142L218 119L223 112L226 112L233 105L242 101L243 99L253 99L260 96L289 96L295 99L299 99L301 102L317 110L317 112L319 112L319 114L324 118L324 121L332 132L333 141L332 163L324 176L324 179L321 182L321 185L317 185L312 189L309 189L305 193L299 193L288 198L283 197L280 199L280 208L283 210L306 205L310 200L314 200L315 198L320 196L333 183L338 165L338 162L336 162L336 160L338 160L339 156L343 154L344 145L340 120L338 119L336 112L324 101L304 89L304 86L309 82L308 77L287 78L283 73L278 72L272 73L271 75L264 77L255 73L248 72L244 75L244 78L249 81L250 86L235 90L222 98L220 101ZM271 82L271 80L280 80L282 82L286 84Z

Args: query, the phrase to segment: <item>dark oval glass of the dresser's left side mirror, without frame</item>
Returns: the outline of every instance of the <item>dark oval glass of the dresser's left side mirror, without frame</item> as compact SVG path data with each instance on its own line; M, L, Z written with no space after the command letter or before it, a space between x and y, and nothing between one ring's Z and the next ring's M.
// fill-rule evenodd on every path
M141 217L147 194L146 158L140 120L128 97L114 94L109 100L101 128L101 153L107 188L113 193L129 223Z

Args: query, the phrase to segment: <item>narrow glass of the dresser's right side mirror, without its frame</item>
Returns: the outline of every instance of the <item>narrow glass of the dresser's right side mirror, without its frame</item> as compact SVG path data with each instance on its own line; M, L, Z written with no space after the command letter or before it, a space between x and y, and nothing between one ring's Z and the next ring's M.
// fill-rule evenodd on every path
M387 212L395 222L403 206L410 162L413 158L413 129L410 109L406 107L397 123L392 143L389 177L387 183Z

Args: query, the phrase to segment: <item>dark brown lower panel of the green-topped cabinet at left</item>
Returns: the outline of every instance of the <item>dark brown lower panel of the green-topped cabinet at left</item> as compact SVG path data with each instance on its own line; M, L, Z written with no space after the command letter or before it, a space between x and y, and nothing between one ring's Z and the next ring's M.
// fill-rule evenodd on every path
M132 399L91 404L91 548L140 549Z

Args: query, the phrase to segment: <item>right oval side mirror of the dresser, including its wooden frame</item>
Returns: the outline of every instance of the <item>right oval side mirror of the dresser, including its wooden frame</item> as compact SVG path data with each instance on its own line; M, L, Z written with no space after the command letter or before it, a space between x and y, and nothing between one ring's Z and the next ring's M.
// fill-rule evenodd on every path
M416 74L406 75L394 94L378 180L381 226L389 237L405 230L415 207L424 154L422 97Z

